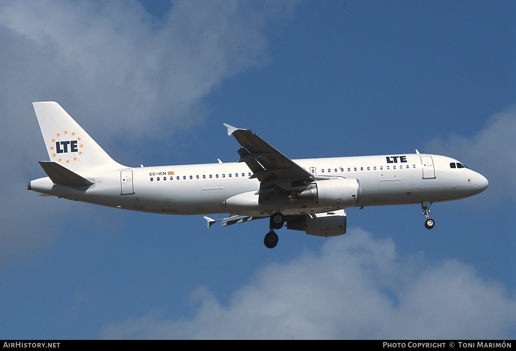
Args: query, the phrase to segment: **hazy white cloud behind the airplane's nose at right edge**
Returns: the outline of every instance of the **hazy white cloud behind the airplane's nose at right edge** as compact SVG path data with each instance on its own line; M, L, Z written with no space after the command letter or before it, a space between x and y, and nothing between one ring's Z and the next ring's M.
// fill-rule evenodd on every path
M516 199L516 106L493 113L473 136L451 135L427 143L432 153L457 157L489 180L490 198L503 203Z

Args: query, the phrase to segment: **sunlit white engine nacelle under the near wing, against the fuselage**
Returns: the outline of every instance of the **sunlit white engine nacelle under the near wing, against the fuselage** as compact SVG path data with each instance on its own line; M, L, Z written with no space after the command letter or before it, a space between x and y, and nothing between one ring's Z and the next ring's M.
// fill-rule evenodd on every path
M322 206L348 207L357 204L359 195L358 179L332 178L312 183L298 193L298 198L312 200Z

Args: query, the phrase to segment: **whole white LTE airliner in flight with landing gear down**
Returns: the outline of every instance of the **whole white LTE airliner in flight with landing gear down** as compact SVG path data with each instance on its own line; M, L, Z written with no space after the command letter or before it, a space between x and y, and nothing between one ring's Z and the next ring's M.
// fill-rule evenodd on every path
M28 190L127 210L204 215L208 228L269 219L275 230L332 237L346 233L350 207L421 204L433 228L433 203L486 190L488 180L454 158L388 154L290 159L254 132L224 124L240 144L237 162L128 167L113 160L56 102L34 102L49 161ZM229 214L212 219L207 214Z

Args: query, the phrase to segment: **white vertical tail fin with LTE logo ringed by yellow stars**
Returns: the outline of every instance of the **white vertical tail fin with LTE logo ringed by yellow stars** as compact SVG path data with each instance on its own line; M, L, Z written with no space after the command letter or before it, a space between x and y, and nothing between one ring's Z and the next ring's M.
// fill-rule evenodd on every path
M58 103L37 102L33 106L51 161L69 170L125 168L113 160Z

